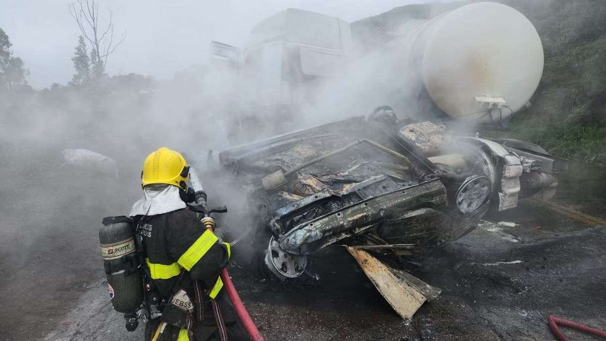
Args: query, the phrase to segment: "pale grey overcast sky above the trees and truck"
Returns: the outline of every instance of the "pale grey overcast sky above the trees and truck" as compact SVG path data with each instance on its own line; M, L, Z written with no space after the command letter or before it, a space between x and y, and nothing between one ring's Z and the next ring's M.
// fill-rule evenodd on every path
M68 6L73 0L0 0L0 28L15 56L30 70L28 83L42 89L72 78L71 58L80 35ZM115 36L125 40L110 56L110 75L140 73L170 78L203 64L210 41L242 47L252 27L285 8L301 8L356 21L393 7L428 0L100 0L113 11Z

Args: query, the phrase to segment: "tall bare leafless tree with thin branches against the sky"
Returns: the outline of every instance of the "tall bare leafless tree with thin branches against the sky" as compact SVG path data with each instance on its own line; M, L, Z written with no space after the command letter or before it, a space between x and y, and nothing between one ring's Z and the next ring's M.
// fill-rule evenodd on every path
M78 0L70 5L70 13L78 23L82 36L91 44L90 65L92 77L99 78L107 66L107 58L124 41L122 34L118 42L114 41L113 13L110 11L107 27L102 29L99 23L99 2Z

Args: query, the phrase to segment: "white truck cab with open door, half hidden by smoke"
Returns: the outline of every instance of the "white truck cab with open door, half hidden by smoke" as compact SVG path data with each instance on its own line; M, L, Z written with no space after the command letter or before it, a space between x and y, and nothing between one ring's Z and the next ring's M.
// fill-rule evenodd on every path
M245 110L233 117L242 129L233 135L293 130L300 104L313 103L318 89L313 85L338 69L350 49L348 22L294 8L259 22L242 50L211 42L211 64L237 70L244 92L238 95ZM263 124L267 122L275 126Z

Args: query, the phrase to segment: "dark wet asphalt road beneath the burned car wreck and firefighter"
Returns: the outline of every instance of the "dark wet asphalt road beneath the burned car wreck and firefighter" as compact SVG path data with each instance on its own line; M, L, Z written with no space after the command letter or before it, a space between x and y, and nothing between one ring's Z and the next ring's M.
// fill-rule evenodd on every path
M606 220L603 193L565 184L556 202ZM86 212L82 224L99 222ZM443 292L410 321L339 248L316 257L316 285L284 288L237 265L230 272L267 340L549 340L550 314L606 329L606 226L579 217L531 201L487 217L422 268L411 268ZM28 241L35 247L18 265L6 261L18 257L3 254L0 339L142 340L142 328L125 331L109 303L96 229L61 219L36 220L46 227Z

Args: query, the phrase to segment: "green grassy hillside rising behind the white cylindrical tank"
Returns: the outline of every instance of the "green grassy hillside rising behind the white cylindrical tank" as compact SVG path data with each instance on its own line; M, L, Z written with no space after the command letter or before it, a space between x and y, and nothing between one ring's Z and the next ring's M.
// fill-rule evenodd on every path
M389 27L431 19L476 1L407 5L353 22L366 47L390 39ZM606 163L606 1L501 0L533 22L545 50L545 69L531 106L507 132L489 135L540 144L554 155Z

